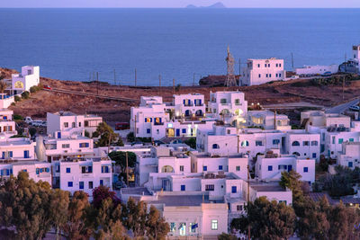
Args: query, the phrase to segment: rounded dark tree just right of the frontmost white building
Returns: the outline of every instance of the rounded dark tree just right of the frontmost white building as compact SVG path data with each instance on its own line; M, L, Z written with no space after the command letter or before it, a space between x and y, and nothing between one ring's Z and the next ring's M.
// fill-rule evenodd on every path
M266 200L260 197L247 206L247 217L242 217L232 224L232 227L247 234L247 225L250 224L250 235L254 239L286 239L293 236L296 215L292 207L275 200ZM235 223L238 223L236 225Z

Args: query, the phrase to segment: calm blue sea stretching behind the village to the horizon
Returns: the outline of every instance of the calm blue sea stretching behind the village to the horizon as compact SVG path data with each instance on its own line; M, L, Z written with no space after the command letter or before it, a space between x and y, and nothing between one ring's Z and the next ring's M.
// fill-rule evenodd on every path
M0 9L0 66L39 65L42 76L119 84L192 84L226 73L226 49L329 65L360 43L360 9ZM238 61L240 59L240 61Z

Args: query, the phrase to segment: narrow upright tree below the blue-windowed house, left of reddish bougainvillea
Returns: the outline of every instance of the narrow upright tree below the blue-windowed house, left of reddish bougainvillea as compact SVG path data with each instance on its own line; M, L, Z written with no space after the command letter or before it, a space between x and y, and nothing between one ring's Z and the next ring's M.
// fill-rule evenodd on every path
M93 228L87 218L90 203L84 191L76 191L68 204L67 222L61 227L67 239L81 240L91 236Z

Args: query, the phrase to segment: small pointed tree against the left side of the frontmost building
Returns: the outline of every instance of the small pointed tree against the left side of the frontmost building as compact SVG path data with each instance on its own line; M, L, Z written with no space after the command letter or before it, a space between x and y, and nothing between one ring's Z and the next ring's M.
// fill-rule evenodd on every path
M165 218L161 217L160 212L153 205L150 206L148 219L146 221L147 236L150 239L165 239L170 231L170 226Z

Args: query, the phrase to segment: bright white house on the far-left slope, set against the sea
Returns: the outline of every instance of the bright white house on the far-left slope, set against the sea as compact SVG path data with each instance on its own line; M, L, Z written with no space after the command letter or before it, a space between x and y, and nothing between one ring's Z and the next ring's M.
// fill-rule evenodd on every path
M20 74L12 75L12 88L14 94L30 91L31 86L40 84L40 67L24 66Z

